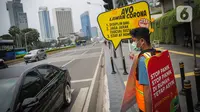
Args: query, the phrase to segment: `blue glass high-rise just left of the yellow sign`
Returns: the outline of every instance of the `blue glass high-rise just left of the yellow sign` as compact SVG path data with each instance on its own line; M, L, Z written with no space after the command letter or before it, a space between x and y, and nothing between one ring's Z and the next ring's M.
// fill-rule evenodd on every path
M91 24L90 24L90 17L89 17L88 11L81 14L81 26L82 26L82 31L84 33L84 36L90 39L92 37L92 33L91 33Z

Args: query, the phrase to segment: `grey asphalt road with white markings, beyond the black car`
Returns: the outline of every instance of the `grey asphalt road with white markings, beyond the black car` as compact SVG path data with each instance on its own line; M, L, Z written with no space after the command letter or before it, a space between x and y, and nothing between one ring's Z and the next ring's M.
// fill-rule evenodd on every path
M45 60L28 64L48 63L58 67L67 67L72 78L72 103L69 107L61 108L60 112L81 112L86 102L86 96L94 77L101 50L101 44L94 46L90 44L52 54ZM10 67L23 66L24 64L22 62ZM95 104L92 106L96 106Z

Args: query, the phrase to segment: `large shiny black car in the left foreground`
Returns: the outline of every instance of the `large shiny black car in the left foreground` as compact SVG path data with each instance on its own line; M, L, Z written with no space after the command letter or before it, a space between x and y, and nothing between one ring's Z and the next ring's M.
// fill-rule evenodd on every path
M71 103L68 70L49 64L0 70L0 112L55 112Z

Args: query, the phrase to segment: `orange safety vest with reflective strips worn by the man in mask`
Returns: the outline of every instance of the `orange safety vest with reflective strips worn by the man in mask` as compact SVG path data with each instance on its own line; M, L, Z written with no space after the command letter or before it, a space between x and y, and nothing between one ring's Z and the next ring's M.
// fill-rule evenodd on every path
M156 51L155 49L151 50L147 50L144 52L141 52L138 56L138 59L142 56L144 56L145 58L150 58L153 55L157 55L158 53L160 53L160 51ZM139 75L138 74L138 62L137 62L137 68L136 68L136 74L134 75L134 80L135 80L135 89L136 89L136 102L138 104L138 107L140 110L142 110L143 112L145 111L145 101L144 101L144 86L141 85L139 83Z

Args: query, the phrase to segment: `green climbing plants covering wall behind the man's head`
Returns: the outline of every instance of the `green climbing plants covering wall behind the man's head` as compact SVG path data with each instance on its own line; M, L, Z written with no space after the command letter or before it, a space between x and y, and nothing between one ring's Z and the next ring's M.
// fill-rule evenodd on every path
M196 4L196 6L193 8L193 15L194 19L200 17L200 4ZM161 43L173 44L173 27L178 24L181 23L176 20L176 10L167 12L165 15L156 19L155 22L152 23L154 32L151 33L151 41L159 40Z

